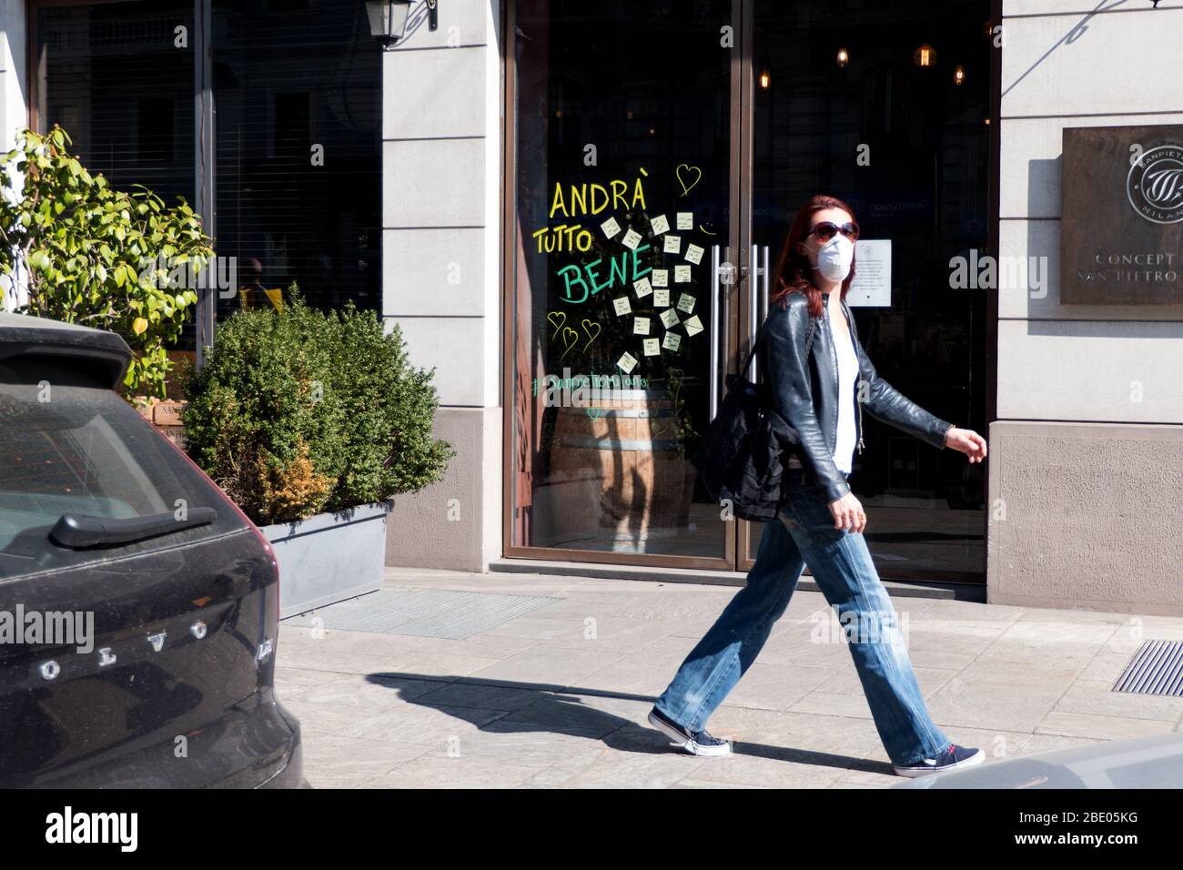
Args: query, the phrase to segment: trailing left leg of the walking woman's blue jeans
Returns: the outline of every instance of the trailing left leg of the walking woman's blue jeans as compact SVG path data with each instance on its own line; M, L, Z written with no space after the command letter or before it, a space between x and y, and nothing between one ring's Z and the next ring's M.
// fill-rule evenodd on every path
M804 562L783 523L764 523L748 584L681 663L654 705L691 732L700 732L768 640L797 586Z

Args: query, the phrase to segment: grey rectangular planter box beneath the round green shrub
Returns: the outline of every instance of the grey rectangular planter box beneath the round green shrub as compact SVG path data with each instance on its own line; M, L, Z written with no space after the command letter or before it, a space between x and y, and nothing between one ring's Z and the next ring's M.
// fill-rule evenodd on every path
M379 502L260 526L279 563L279 618L381 588L389 510Z

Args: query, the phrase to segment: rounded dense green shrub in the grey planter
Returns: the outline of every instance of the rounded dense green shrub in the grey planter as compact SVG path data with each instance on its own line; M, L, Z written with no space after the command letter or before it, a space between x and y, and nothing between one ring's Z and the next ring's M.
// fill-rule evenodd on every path
M194 462L259 524L341 511L442 477L455 452L432 434L432 373L407 362L373 311L323 314L300 299L219 324L188 373Z

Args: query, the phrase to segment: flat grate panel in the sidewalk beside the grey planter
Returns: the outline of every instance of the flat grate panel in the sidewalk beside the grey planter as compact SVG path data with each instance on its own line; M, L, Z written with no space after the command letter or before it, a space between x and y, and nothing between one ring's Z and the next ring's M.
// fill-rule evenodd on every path
M337 631L370 631L460 640L558 600L562 599L503 595L492 592L380 589L369 595L321 607L309 614L285 619L284 623L310 626L313 625L313 619L319 618L325 629Z

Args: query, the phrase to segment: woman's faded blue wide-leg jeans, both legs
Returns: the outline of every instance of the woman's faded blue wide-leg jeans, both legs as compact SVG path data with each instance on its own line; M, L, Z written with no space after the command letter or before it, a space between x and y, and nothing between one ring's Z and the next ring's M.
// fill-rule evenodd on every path
M843 627L887 758L912 765L938 755L950 740L929 717L866 541L834 528L825 492L801 470L789 475L788 498L778 518L764 523L748 585L690 651L655 707L691 732L703 730L756 659L808 563Z

